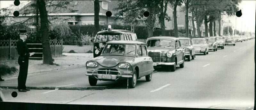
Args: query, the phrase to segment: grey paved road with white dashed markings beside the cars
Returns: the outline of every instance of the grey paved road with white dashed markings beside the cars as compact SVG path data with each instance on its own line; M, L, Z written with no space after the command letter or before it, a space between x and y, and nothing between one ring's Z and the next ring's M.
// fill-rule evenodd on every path
M127 84L98 81L90 86L86 68L60 70L28 76L28 87L109 87L101 90L36 90L21 93L17 89L1 89L5 101L123 105L154 107L190 107L216 109L254 109L254 39L225 46L208 55L196 55L184 68L167 72L157 68L152 80L145 77L133 89ZM158 72L157 72L158 71ZM17 79L1 82L1 86L18 86ZM18 96L13 98L11 93Z

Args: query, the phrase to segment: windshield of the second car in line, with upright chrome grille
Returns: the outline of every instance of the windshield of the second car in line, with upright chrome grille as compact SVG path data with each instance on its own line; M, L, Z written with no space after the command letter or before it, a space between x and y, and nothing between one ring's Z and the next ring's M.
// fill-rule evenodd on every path
M171 47L174 48L174 41L173 40L165 40L165 39L152 39L148 40L147 42L148 47Z

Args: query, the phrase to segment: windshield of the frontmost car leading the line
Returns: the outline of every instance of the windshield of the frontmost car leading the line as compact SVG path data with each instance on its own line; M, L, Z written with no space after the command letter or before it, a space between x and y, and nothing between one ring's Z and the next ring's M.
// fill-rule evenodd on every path
M135 55L135 45L108 44L102 54Z

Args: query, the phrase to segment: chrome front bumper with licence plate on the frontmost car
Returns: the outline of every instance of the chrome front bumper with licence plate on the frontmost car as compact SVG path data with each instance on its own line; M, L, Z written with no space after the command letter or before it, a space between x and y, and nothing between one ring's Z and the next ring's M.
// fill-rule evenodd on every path
M106 72L106 74L98 74L99 71ZM132 71L110 71L110 70L86 70L85 75L92 76L98 80L118 80L122 78L132 78ZM118 72L117 75L109 74L109 72Z

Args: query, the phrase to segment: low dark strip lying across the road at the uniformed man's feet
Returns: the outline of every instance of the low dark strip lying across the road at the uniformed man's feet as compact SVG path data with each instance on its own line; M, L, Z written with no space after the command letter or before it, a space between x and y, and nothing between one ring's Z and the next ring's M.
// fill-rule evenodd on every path
M27 87L28 89L35 90L104 90L110 89L113 86L101 86L101 87ZM18 89L17 86L0 86L3 89Z

